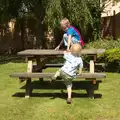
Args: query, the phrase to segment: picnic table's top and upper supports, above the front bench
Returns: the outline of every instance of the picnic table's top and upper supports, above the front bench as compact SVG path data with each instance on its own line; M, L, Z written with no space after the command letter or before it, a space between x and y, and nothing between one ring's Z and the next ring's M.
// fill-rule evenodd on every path
M105 52L105 49L83 49L81 55L89 55L92 56L90 60L90 73L94 73L94 62L96 61L96 57L98 54L102 54ZM28 72L32 72L32 61L36 60L37 66L42 68L48 61L50 61L50 57L61 56L63 55L63 50L40 50L40 49L29 49L18 52L18 55L24 56L28 61ZM45 57L45 59L42 59Z

